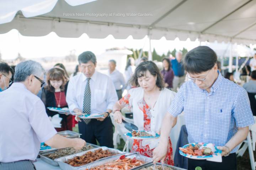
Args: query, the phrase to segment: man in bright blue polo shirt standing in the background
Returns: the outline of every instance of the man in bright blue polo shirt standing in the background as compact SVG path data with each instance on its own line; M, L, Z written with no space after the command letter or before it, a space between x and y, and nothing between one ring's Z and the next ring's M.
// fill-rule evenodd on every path
M174 60L171 60L172 69L174 70L174 80L173 80L174 91L177 91L177 88L180 88L180 86L185 81L185 72L184 72L184 67L181 59L182 59L182 52L177 51L176 58Z

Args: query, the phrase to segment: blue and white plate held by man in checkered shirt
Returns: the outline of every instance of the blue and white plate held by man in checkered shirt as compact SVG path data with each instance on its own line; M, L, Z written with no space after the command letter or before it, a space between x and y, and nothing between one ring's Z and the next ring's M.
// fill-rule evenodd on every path
M189 143L187 145L184 145L182 148L187 148L189 145L192 145L192 146L195 146L195 145L202 145L200 148L202 147L207 147L207 145L211 145L212 143ZM187 153L184 153L182 152L181 150L179 151L179 153L184 156L184 157L187 157L187 158L190 158L190 159L209 159L209 158L213 158L213 157L217 157L218 155L220 155L222 153L221 150L217 149L217 147L212 144L214 149L215 149L215 152L212 154L212 155L202 155L202 156L193 156L191 154L187 154Z

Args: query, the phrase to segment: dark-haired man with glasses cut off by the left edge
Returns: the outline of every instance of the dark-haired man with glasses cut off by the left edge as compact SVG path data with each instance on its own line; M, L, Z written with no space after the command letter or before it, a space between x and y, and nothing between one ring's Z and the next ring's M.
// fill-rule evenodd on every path
M12 68L5 62L0 62L0 92L6 90L11 85Z

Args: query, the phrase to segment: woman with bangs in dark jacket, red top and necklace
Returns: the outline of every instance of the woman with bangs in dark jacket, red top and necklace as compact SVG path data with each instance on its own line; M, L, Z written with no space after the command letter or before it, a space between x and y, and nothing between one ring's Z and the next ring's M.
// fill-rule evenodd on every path
M41 99L46 107L46 113L49 117L53 117L58 112L50 111L47 107L68 107L66 103L66 91L68 87L67 78L63 69L52 68L47 72L47 85L42 89ZM60 114L62 118L61 128L55 128L58 132L64 130L72 131L72 115Z

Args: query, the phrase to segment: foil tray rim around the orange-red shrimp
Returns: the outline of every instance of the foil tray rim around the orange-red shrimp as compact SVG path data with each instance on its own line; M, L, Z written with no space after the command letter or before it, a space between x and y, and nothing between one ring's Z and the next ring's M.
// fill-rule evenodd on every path
M117 155L117 156L114 156L114 157L111 157L111 158L108 158L108 159L104 159L104 160L97 161L97 162L94 162L94 163L91 163L91 164L87 164L87 165L82 166L78 170L91 169L91 168L94 168L96 166L100 166L100 165L104 165L104 164L107 164L107 163L111 163L111 162L114 162L115 160L119 159L120 156L121 155ZM142 160L142 161L145 162L145 164L137 166L137 167L132 168L130 170L140 169L143 166L146 166L148 164L153 163L153 159L151 159L149 157L142 156L142 155L138 155L138 154L130 155L130 156L127 156L126 158L130 158L130 159L136 158L138 160Z

